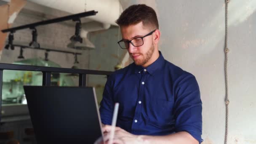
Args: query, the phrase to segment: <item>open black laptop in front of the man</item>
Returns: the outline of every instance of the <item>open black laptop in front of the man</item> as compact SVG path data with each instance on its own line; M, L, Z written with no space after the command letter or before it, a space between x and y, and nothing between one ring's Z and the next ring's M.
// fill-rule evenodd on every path
M93 144L103 136L93 87L24 86L37 144Z

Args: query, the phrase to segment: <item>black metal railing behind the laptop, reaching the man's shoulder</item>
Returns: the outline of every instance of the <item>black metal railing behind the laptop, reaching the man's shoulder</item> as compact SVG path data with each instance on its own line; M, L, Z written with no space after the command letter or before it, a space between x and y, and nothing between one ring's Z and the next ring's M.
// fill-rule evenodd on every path
M1 120L1 106L2 106L2 84L3 84L3 70L21 70L21 71L37 71L43 72L43 83L44 86L51 85L51 73L75 73L79 74L79 86L86 86L86 75L107 75L109 76L112 72L110 71L98 71L89 69L69 69L59 67L41 67L21 64L4 64L0 63L0 120Z

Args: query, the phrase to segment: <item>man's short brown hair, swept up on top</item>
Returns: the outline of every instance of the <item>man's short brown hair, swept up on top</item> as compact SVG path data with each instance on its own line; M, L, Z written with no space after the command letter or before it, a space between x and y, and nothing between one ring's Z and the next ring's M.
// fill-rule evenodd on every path
M143 23L144 26L159 29L157 14L155 10L147 5L131 5L125 9L115 21L120 27L131 24Z

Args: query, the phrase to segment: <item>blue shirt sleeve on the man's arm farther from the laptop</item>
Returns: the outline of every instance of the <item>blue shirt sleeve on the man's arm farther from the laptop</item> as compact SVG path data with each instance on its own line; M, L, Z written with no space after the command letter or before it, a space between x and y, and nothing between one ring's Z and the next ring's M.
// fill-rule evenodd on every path
M175 85L175 131L188 132L200 144L202 141L202 101L195 76L190 73L181 75Z

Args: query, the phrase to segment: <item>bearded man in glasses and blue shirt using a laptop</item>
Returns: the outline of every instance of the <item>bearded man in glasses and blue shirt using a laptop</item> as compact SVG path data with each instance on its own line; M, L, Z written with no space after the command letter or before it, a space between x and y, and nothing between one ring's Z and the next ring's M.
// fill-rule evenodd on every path
M202 141L202 102L195 77L171 64L158 51L155 11L131 5L120 15L121 48L134 63L108 77L101 101L104 132L111 129L120 104L115 143L198 144Z

